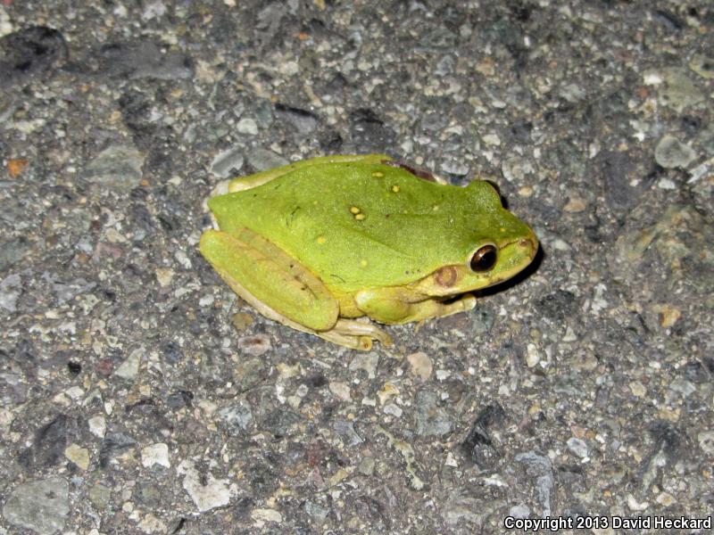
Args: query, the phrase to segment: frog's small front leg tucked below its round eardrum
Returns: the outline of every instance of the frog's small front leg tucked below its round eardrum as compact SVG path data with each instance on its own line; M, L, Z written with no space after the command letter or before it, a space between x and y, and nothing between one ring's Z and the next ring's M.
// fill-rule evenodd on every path
M367 316L386 324L451 316L476 306L476 298L470 293L464 293L458 300L444 302L414 293L409 288L396 287L362 290L357 292L354 300Z

